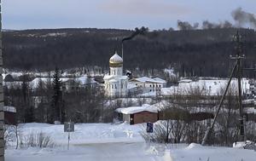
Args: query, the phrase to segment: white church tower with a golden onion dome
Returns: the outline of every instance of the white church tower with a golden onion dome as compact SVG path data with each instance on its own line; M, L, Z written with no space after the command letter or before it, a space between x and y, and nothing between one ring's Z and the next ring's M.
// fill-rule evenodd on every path
M104 76L107 96L127 95L128 77L123 76L123 59L115 52L109 59L110 74Z

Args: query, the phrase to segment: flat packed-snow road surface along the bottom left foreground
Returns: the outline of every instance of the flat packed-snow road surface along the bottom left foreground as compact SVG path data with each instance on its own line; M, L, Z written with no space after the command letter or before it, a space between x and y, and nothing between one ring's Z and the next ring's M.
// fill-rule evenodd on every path
M67 148L67 147L65 147ZM6 161L160 161L162 155L143 142L84 144L57 149L7 150Z

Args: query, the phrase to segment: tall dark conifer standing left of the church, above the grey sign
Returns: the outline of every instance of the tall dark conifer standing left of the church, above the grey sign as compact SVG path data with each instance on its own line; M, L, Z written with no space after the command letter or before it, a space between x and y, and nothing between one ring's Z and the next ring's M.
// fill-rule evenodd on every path
M53 121L60 121L63 123L64 121L64 109L62 105L62 91L61 91L61 80L60 80L60 71L56 67L55 68L55 74L54 74L54 80L53 80L53 90L54 95L52 97L52 114L53 114Z

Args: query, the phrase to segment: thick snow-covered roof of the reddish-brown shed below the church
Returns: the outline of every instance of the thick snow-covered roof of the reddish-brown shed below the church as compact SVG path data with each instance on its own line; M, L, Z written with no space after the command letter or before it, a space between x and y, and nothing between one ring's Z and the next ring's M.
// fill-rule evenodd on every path
M143 106L131 106L126 108L118 108L115 111L123 114L134 114L137 112L154 112L154 113L158 112L156 108L148 104L143 104Z

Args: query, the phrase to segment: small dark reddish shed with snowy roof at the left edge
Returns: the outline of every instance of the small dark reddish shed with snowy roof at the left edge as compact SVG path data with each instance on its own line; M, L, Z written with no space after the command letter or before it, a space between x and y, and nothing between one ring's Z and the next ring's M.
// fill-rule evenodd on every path
M4 124L16 124L15 106L3 106Z

